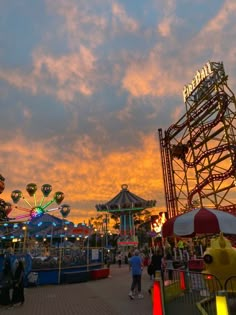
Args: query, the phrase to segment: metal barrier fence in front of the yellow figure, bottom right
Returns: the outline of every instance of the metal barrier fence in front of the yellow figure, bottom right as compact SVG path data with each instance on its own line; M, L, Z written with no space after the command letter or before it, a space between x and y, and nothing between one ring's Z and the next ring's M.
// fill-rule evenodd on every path
M222 294L227 298L228 314L236 314L236 276L224 286L213 275L188 270L166 270L162 278L163 314L218 315L216 296Z

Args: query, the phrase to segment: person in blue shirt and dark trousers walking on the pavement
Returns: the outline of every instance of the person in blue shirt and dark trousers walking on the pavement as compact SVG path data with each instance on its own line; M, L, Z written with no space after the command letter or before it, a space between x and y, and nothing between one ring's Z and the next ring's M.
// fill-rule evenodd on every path
M142 299L143 295L141 294L141 278L142 278L142 270L143 270L143 263L142 258L139 255L139 250L136 249L134 251L134 256L130 258L129 261L131 274L132 274L132 284L129 292L129 297L131 300L134 299L134 290L137 287L138 289L138 298Z

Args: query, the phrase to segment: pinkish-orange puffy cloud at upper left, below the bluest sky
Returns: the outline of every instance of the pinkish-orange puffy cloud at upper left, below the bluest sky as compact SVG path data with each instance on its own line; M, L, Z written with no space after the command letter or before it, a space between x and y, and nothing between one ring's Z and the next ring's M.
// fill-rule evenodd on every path
M62 102L73 101L78 93L89 96L93 93L93 71L96 57L86 47L80 52L54 57L42 51L33 53L33 70L26 74L18 69L0 70L0 79L18 89L32 94L45 93L56 96ZM54 84L49 81L54 81Z

